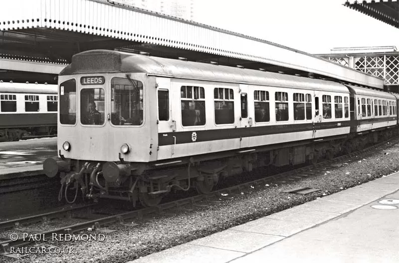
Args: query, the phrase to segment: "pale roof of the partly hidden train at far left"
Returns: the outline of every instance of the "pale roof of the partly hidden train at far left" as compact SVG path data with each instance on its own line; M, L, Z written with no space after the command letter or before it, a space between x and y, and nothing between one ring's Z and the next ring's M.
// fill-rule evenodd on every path
M0 92L57 94L57 85L0 82Z

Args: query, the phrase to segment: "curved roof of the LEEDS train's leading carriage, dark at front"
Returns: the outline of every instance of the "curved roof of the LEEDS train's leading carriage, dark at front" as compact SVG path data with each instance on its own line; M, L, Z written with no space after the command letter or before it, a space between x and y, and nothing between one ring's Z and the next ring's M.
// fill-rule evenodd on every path
M72 63L60 75L112 72L349 93L344 85L327 80L111 50L90 50L75 54Z

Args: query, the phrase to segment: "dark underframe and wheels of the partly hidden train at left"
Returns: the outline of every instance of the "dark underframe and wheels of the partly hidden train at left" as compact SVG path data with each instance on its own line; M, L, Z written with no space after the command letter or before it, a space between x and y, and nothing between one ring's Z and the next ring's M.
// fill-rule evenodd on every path
M23 137L56 135L57 126L18 127L0 129L0 141L15 142Z

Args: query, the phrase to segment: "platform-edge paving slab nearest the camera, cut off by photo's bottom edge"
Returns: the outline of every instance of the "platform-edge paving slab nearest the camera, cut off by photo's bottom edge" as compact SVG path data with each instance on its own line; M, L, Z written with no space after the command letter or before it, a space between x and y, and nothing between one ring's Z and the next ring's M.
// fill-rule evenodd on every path
M246 255L241 252L228 251L183 244L169 250L135 260L135 263L225 263Z

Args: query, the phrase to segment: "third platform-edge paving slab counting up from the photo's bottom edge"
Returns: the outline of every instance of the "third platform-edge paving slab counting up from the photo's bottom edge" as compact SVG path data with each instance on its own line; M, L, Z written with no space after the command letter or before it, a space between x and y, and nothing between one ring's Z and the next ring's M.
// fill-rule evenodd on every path
M233 227L231 230L289 237L314 226L315 224L308 222L270 219L269 217L265 217Z

